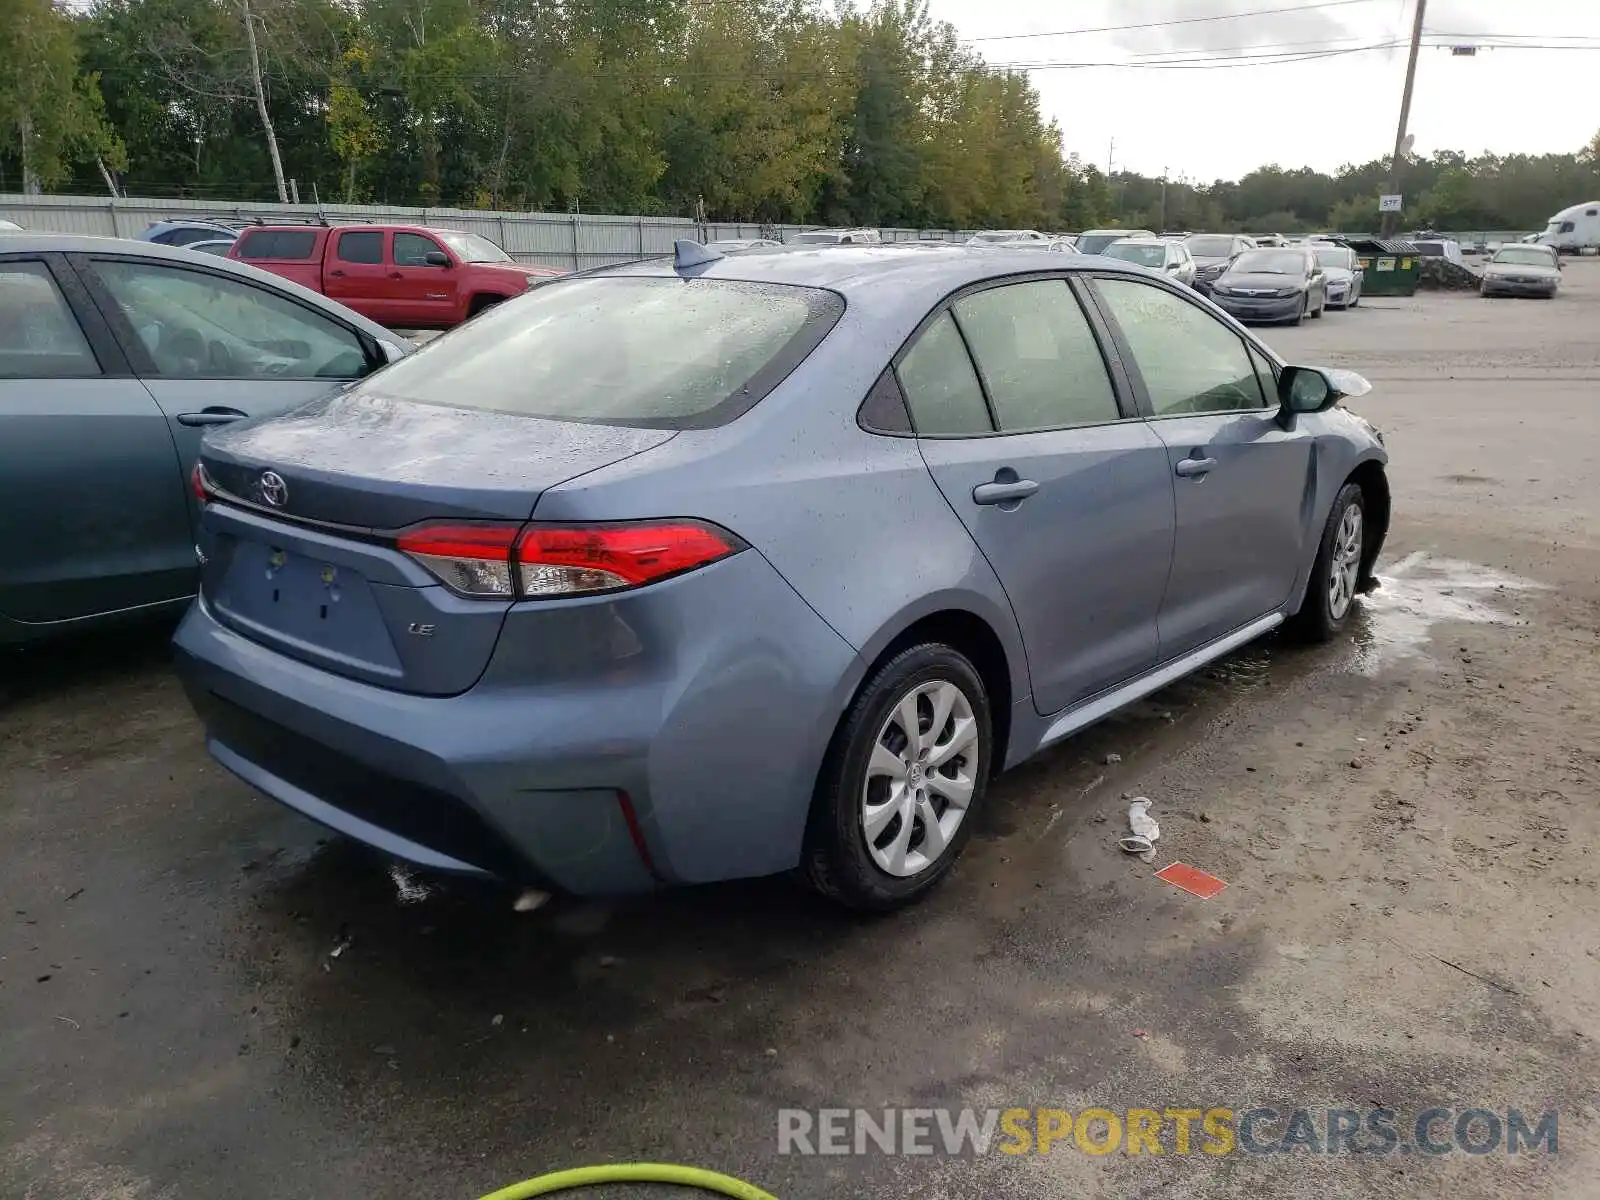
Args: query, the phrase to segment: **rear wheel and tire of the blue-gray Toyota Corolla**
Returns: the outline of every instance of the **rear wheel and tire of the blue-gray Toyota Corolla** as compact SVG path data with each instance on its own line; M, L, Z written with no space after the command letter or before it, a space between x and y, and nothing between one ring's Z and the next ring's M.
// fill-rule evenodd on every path
M928 891L971 837L992 739L982 678L955 650L926 643L883 664L818 779L803 859L811 886L872 912Z

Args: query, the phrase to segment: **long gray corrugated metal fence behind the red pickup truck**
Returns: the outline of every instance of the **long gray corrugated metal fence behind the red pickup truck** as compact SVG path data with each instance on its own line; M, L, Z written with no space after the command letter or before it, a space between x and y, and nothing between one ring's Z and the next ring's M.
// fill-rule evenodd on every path
M549 267L602 267L648 254L670 254L680 238L778 237L814 226L755 226L712 222L696 226L672 216L598 216L568 213L494 213L470 208L402 208L392 205L254 205L208 200L146 200L91 195L5 195L0 219L24 229L98 237L138 237L155 221L213 218L227 221L283 221L285 218L330 222L392 221L442 226L482 234L518 262ZM950 230L885 229L885 242L947 242L965 235Z

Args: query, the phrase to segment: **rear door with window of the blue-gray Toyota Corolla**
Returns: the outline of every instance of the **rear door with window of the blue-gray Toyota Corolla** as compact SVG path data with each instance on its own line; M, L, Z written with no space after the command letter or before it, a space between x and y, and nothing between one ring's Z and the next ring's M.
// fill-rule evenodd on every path
M1035 707L1150 667L1173 546L1166 451L1114 387L1074 288L962 296L896 371L933 478L1011 600Z

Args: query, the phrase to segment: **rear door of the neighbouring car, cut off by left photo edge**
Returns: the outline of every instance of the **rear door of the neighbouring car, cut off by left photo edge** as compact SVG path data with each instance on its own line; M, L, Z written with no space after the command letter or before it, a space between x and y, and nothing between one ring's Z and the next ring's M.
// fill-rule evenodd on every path
M194 573L162 410L59 254L0 253L0 614L138 608Z

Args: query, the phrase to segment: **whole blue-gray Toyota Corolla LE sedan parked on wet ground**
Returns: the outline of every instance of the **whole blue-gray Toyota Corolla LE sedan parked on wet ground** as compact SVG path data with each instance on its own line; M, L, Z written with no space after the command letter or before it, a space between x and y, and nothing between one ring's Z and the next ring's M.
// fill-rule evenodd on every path
M1365 390L1109 259L682 243L211 434L179 662L224 766L403 859L886 909L1000 770L1346 624Z

